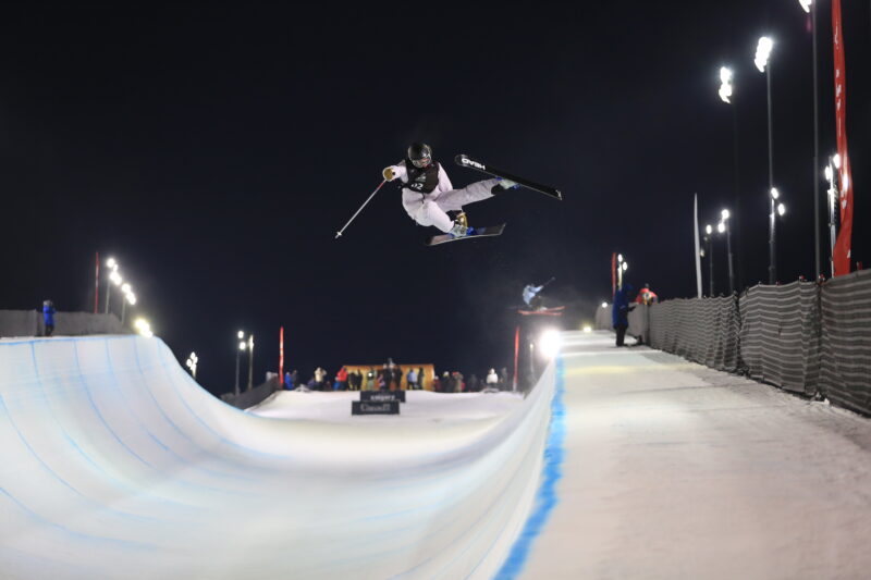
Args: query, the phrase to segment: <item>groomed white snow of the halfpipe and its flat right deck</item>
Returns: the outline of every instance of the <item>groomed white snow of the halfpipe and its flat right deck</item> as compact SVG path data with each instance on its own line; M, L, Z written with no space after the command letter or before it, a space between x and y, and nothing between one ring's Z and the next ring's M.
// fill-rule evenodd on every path
M869 576L871 421L613 340L398 417L240 411L157 338L0 341L0 578Z

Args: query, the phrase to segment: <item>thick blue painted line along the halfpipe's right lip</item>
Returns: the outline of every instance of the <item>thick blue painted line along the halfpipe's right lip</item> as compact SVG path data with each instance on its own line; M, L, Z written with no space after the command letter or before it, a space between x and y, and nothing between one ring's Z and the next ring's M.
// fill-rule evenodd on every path
M498 580L513 580L517 578L526 565L532 542L538 538L548 522L551 511L556 506L556 482L563 477L563 443L565 441L565 406L563 393L565 392L565 368L563 357L556 359L556 382L553 400L551 402L551 424L548 433L548 443L544 445L544 466L542 468L541 485L536 493L536 506L524 525L520 535L514 542L507 559L496 572Z

